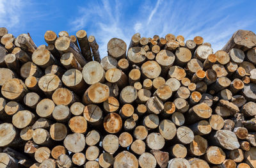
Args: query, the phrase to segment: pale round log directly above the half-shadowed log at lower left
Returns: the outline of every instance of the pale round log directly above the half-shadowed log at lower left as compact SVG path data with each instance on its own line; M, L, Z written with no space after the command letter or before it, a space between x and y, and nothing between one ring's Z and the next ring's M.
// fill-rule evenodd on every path
M66 122L70 116L70 109L66 105L56 105L52 111L52 117L58 122Z

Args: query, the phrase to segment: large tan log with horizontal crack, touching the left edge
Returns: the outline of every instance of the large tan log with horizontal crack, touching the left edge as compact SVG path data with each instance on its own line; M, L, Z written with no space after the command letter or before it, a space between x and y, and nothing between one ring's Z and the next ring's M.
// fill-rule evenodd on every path
M27 92L28 88L24 82L17 78L9 79L1 88L2 95L10 100L21 100Z

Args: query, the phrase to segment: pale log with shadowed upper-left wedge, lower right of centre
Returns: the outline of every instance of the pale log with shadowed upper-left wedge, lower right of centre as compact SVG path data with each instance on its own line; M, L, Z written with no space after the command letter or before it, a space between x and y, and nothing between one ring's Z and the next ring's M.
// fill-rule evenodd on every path
M169 119L163 119L159 123L159 133L163 136L163 138L168 141L175 137L177 132L175 124Z

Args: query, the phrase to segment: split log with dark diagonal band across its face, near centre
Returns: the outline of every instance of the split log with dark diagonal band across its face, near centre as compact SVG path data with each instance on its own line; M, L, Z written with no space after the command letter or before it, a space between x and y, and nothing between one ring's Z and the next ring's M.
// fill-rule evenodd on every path
M149 98L146 106L148 112L153 114L159 114L164 109L163 102L159 98L157 98L157 96Z

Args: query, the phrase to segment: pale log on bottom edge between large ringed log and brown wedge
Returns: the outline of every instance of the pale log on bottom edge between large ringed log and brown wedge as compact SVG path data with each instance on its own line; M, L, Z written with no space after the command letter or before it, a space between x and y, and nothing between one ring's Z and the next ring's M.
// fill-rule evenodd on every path
M155 168L157 164L154 155L147 152L140 155L138 161L141 168Z

